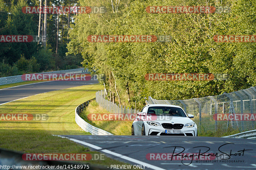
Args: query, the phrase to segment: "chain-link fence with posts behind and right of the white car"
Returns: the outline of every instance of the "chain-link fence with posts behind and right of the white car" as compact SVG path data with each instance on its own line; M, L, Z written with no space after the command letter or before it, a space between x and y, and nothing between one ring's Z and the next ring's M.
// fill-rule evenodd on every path
M148 97L148 104L178 105L187 114L195 116L198 130L239 131L256 129L256 89L251 87L237 92L223 93L189 100L156 100Z

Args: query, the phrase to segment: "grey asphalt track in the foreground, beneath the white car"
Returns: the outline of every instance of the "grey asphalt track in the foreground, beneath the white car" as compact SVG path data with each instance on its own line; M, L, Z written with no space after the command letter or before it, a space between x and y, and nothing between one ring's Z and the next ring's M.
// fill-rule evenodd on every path
M90 136L63 135L71 140L89 146L92 150L105 153L108 157L138 165L142 161L145 169L175 170L248 170L256 169L256 141L218 137L176 137L176 136ZM79 141L83 142L79 142ZM176 146L176 148L175 148ZM197 147L197 148L195 148ZM208 151L209 149L209 151ZM175 150L175 151L174 151ZM184 150L184 151L183 151ZM200 151L201 150L201 151ZM250 150L250 151L247 151ZM183 151L183 152L182 152ZM213 162L193 160L150 160L149 153L218 153ZM206 152L207 151L207 152ZM231 152L231 154L230 154ZM243 154L244 153L244 154ZM121 155L120 155L121 154ZM222 155L221 155L222 154ZM155 156L154 156L155 155ZM156 159L154 154L151 159ZM231 157L229 158L230 155ZM236 156L235 156L236 155ZM131 159L129 159L129 158ZM124 158L124 159L122 159ZM158 158L161 158L158 157ZM163 156L163 159L167 158ZM169 159L171 156L169 157ZM176 157L177 158L177 157ZM195 157L194 157L195 158ZM209 158L209 157L208 157ZM177 158L178 159L178 158ZM129 161L131 160L131 161ZM215 162L214 162L215 160ZM235 161L235 162L234 162ZM236 162L240 161L240 162ZM143 165L142 163L142 165ZM186 164L186 165L184 165ZM188 165L189 164L189 165ZM159 167L159 168L157 168ZM110 168L110 167L109 167ZM112 168L113 169L113 168Z

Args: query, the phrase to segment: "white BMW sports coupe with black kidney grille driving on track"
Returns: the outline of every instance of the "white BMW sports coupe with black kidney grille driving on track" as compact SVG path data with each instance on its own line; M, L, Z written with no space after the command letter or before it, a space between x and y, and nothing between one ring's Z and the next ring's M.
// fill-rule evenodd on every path
M180 106L151 104L132 122L132 135L197 136L197 125Z

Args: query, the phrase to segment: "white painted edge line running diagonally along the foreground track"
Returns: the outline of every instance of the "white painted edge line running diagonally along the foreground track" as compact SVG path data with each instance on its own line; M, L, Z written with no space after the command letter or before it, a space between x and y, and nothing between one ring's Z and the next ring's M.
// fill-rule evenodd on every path
M55 136L55 135L54 135L54 136ZM56 135L56 136L62 137L62 136L59 136L59 135ZM114 155L114 156L119 157L119 158L121 158L121 159L125 159L125 160L128 160L128 161L130 161L130 162L134 162L135 164L138 164L138 165L145 165L146 167L151 168L151 169L155 169L155 170L165 170L165 169L160 168L160 167L158 167L158 166L154 166L154 165L148 164L148 163L146 163L146 162L142 162L142 161L140 161L140 160L133 159L133 158L130 158L130 157L128 157L128 156L124 156L124 155L121 155L121 154L119 154L119 153L109 151L109 150L107 150L107 149L103 149L103 148L101 148L101 147L99 147L99 146L96 146L96 145L93 145L93 144L89 144L89 143L84 142L84 141L80 141L80 140L77 140L77 139L72 139L72 138L69 138L69 137L62 137L62 138L68 138L69 140L72 140L72 141L74 141L74 142L76 142L76 143L89 146L89 147L91 147L91 148L93 148L93 149L100 150L100 152L105 152L105 153ZM101 149L102 149L102 150L101 150Z

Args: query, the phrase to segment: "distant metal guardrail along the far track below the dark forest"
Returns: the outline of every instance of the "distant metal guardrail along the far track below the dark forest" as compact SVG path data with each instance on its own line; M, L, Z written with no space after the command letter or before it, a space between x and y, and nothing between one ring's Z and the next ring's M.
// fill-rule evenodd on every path
M36 73L36 74L65 74L65 73L90 73L88 69L81 68L81 69L71 69L71 70L60 70L60 71L50 71L50 72L43 72L43 73ZM21 79L22 75L18 76L10 76L10 77L3 77L0 78L0 85L7 85L12 83L20 83L24 82L24 80Z

